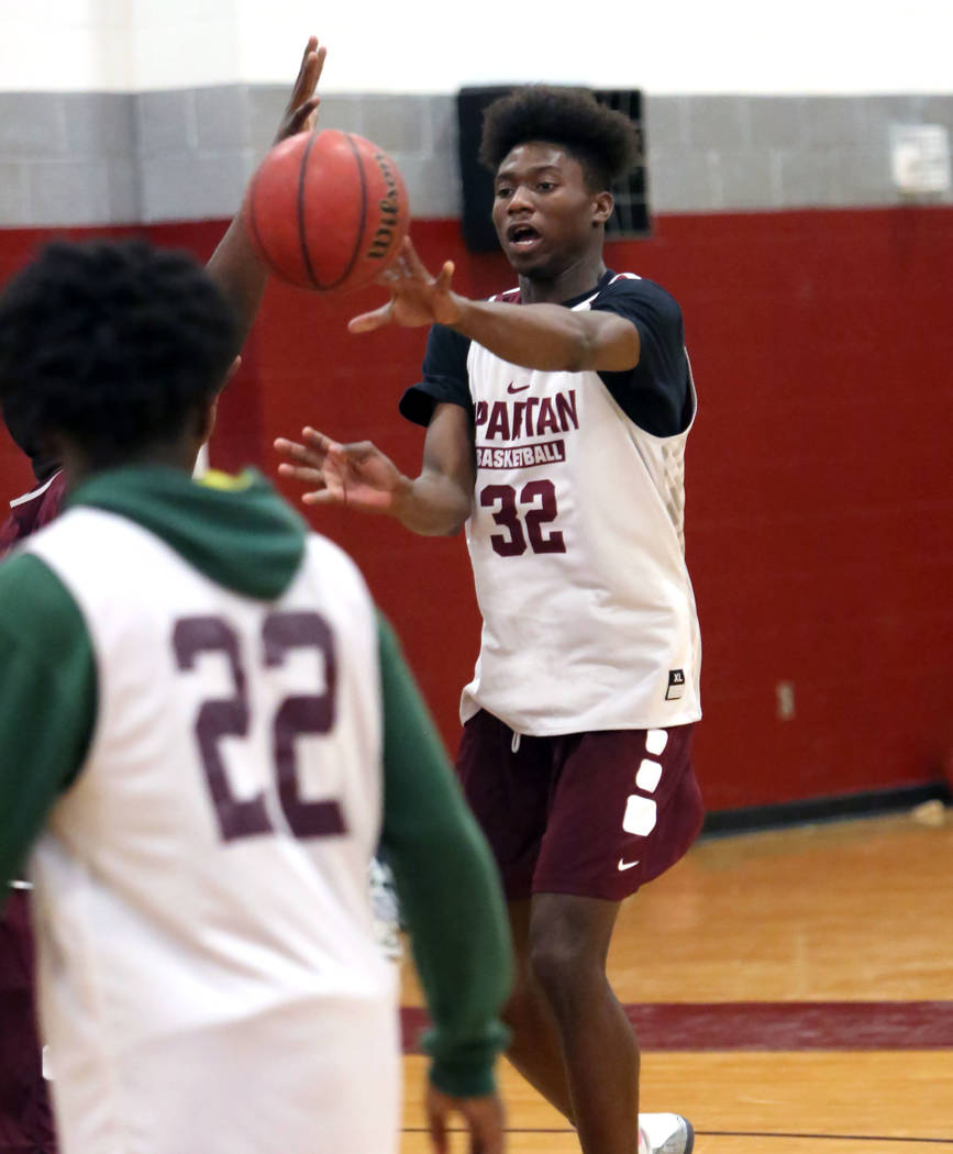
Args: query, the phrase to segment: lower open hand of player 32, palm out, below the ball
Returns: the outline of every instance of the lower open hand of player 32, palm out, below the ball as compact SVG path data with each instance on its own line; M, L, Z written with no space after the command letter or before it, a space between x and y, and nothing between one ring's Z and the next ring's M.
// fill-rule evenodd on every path
M307 487L305 504L346 504L365 512L397 516L411 481L370 441L340 444L317 429L301 430L303 444L279 437L275 448L286 459L278 466Z

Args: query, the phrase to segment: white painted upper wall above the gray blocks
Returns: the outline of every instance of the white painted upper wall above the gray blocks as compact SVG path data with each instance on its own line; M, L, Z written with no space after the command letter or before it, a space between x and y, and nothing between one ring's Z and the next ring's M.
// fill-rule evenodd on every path
M953 0L0 0L0 89L285 83L312 31L328 92L953 91Z

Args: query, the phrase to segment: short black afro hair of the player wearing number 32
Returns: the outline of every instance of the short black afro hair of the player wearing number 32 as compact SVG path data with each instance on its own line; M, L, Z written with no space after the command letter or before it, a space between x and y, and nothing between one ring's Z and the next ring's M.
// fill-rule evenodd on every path
M587 89L528 84L483 113L480 162L496 172L527 141L558 144L583 165L588 187L602 192L638 158L638 132L622 112L600 104Z

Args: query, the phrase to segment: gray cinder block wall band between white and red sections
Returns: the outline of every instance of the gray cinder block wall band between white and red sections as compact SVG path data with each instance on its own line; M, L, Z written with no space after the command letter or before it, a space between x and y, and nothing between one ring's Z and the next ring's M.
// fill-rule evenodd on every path
M0 93L0 227L230 217L286 98L240 84ZM645 107L653 213L901 203L891 125L953 135L953 96L650 93ZM321 123L390 151L415 217L459 215L453 96L331 93Z

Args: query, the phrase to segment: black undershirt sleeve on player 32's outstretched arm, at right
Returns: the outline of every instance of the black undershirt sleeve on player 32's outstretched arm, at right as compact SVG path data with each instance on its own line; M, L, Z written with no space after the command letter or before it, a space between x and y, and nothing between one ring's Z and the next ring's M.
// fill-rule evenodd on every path
M625 415L653 436L684 433L692 418L682 310L661 285L623 277L607 285L593 310L615 313L639 332L639 362L624 373L600 373Z

